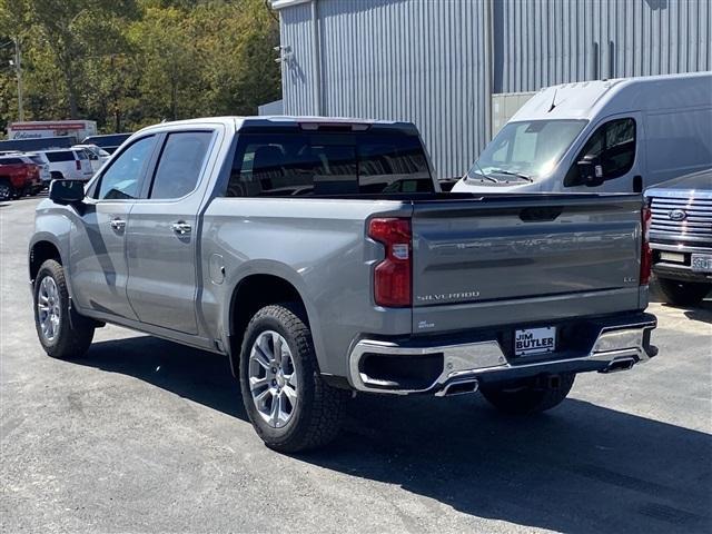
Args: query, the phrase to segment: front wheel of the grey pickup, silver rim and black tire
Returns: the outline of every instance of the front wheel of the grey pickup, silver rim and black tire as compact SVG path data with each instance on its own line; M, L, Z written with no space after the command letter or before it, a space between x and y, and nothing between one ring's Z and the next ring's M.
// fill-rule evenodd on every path
M42 264L34 280L34 326L42 348L53 358L78 358L93 339L95 323L69 307L65 270L53 259Z

